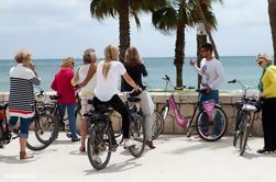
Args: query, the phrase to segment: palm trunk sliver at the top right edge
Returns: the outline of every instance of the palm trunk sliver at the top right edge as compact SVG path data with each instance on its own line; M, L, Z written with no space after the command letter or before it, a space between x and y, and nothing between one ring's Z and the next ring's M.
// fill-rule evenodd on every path
M274 65L276 65L276 0L268 0L268 14L274 48Z

